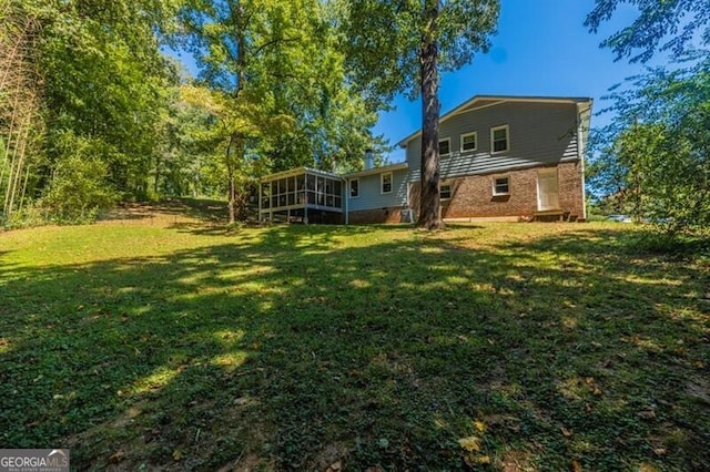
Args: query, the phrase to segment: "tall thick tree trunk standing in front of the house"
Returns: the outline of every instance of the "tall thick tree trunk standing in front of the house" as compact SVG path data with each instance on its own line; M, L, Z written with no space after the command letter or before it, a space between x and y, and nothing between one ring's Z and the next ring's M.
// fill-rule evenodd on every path
M444 227L439 215L439 76L437 70L438 45L436 19L438 0L426 0L426 28L422 35L419 61L422 63L422 195L419 220L425 229Z

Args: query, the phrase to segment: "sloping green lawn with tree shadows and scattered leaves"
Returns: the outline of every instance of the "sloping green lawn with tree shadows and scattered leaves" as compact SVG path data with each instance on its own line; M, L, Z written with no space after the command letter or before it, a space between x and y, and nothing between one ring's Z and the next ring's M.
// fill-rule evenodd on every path
M81 470L710 469L702 254L618 224L207 213L0 234L1 448Z

